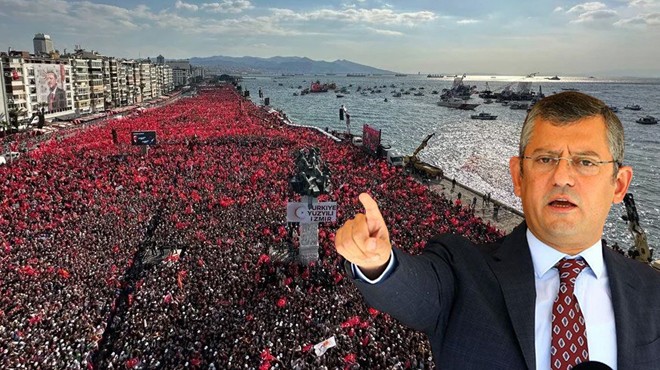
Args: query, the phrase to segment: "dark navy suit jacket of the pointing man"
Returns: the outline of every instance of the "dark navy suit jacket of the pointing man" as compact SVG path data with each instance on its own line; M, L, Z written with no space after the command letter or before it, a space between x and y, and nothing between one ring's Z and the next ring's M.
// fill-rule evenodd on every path
M432 238L424 252L394 249L393 273L354 280L367 303L426 333L439 369L535 369L534 267L523 223L501 243ZM660 273L604 248L618 369L660 369Z

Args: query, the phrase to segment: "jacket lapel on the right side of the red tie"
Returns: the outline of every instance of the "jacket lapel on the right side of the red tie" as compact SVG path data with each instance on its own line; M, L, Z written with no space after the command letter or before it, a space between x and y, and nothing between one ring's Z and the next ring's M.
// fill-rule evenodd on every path
M614 321L616 324L617 367L630 369L635 359L631 357L635 348L635 323L641 318L640 296L635 284L635 272L614 251L603 248L603 260L607 266L610 283Z

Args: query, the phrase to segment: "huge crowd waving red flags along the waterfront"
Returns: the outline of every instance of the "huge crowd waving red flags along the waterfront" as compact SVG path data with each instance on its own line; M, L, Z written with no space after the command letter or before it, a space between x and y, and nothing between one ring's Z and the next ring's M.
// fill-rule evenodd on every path
M145 130L158 142L146 153L131 145ZM274 252L297 247L289 179L310 147L332 173L319 200L339 211L302 265ZM3 369L433 368L423 335L362 302L335 231L367 191L411 253L436 233L502 236L469 204L231 86L53 136L0 168L0 187ZM148 261L153 250L176 253Z

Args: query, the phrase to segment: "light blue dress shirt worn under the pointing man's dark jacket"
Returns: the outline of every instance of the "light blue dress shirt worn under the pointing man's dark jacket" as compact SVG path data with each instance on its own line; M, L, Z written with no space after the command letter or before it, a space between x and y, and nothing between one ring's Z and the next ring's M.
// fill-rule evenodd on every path
M616 370L616 325L600 240L577 256L568 256L544 244L529 229L527 243L532 254L536 283L536 369L550 369L552 305L559 291L559 272L553 267L564 257L581 256L589 266L582 270L575 281L575 297L586 322L589 360L600 361Z

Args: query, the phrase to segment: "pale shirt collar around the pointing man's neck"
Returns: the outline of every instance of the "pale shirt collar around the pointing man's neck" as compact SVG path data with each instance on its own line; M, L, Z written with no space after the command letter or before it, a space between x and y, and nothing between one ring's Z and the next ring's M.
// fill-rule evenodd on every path
M577 256L569 256L540 241L529 229L527 229L526 234L529 251L532 254L534 274L536 274L537 278L541 278L545 275L562 258L576 258L578 256L584 258L589 265L589 268L585 269L585 271L591 270L591 273L597 279L604 276L605 263L603 262L603 248L600 240L591 247L580 252Z

